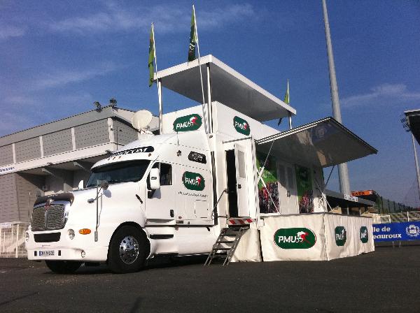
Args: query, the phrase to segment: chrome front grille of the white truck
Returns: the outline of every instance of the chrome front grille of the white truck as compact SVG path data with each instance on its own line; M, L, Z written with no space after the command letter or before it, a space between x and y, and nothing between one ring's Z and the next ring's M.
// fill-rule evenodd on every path
M34 208L31 228L32 231L52 231L64 228L64 205L54 204Z

